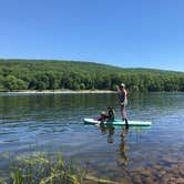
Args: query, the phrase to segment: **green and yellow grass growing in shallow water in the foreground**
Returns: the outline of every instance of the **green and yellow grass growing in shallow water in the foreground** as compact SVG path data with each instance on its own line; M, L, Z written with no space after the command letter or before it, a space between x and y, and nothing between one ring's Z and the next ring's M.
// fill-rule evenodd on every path
M31 156L18 156L11 163L10 173L0 177L0 184L113 183L89 175L88 163L83 167L79 165L73 160L64 161L61 151L55 157L40 152Z

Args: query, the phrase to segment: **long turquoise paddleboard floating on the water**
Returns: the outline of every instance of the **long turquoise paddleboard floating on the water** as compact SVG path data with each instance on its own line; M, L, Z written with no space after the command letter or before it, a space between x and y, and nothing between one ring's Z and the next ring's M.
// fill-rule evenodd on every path
M100 124L101 122L98 121L96 117L93 117L93 119L84 119L83 120L85 124ZM127 121L129 125L131 126L150 126L152 125L152 122L149 122L149 121ZM122 121L122 120L114 120L114 121L111 121L111 122L104 122L104 124L112 124L112 125L125 125L125 121Z

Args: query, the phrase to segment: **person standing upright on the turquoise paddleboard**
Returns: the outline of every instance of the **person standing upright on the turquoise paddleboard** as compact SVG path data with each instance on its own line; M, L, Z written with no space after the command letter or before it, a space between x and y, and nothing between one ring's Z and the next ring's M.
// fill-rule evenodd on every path
M121 83L120 86L116 85L116 88L117 88L119 98L120 98L122 120L125 121L125 127L129 129L127 116L125 111L125 106L127 104L127 92L125 90L125 84Z

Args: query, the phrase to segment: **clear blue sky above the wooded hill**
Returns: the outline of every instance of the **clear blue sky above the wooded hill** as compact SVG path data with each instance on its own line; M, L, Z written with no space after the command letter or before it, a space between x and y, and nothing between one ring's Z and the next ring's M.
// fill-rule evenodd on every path
M0 58L184 71L184 0L1 0Z

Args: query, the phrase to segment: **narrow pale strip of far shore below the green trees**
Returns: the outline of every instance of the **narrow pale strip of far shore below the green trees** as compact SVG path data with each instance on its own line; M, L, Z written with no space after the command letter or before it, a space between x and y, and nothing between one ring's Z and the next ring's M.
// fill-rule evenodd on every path
M115 93L115 91L111 90L27 90L27 91L11 91L11 92L0 92L0 93L8 93L8 94L80 94L80 93Z

